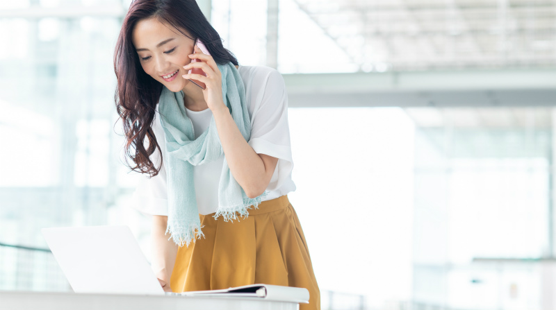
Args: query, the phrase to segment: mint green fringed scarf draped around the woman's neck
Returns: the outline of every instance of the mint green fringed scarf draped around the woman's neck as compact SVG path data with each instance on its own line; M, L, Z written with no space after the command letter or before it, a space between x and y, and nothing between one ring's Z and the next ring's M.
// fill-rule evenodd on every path
M231 117L236 122L245 141L251 137L251 120L245 101L245 86L238 69L233 63L217 64L222 74L222 98L231 110ZM166 233L178 246L189 247L191 239L195 241L204 236L201 231L197 199L195 198L195 182L193 182L193 166L217 160L224 154L214 116L208 129L197 139L193 132L193 123L187 117L183 103L183 91L172 92L163 86L158 112L165 132L166 150L164 165L166 169L168 191L168 223ZM261 203L266 192L256 198L249 198L240 187L224 156L224 165L218 184L218 209L215 219L224 216L224 221L237 219L236 212L247 217L247 208L255 208ZM239 220L238 220L239 221ZM204 226L203 226L204 227ZM170 240L170 238L168 240Z

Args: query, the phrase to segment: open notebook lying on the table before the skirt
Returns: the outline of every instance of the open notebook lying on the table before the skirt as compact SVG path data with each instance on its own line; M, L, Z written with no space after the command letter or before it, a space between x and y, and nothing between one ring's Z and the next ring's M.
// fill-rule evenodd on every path
M302 287L280 286L271 284L250 284L244 286L230 287L229 289L188 291L183 293L172 293L172 295L211 296L227 298L253 297L282 302L302 302L304 304L309 303L309 290Z

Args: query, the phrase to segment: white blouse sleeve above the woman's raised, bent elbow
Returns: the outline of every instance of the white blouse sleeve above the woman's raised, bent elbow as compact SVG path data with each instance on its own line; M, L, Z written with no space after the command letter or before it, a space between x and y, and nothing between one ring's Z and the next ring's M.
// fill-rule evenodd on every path
M278 158L275 172L267 187L268 191L273 191L291 180L293 160L286 83L279 71L269 69L260 86L263 94L252 115L251 137L248 143L256 153Z

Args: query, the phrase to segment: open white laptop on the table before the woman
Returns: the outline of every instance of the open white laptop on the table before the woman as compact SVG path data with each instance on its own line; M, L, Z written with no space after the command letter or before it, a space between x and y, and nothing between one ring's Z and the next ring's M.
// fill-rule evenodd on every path
M174 295L165 292L127 226L42 228L75 293Z

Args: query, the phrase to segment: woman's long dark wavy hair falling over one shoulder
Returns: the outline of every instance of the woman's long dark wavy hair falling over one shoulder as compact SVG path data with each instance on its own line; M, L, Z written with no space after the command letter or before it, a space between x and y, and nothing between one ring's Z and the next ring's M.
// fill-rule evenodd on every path
M133 171L149 173L152 178L162 166L162 150L152 130L155 107L162 92L162 83L142 69L139 55L131 41L133 28L142 19L156 18L170 24L192 40L200 38L218 64L238 65L233 53L224 49L222 39L208 22L195 0L134 0L126 13L114 51L117 87L114 95L116 110L124 126L127 166ZM185 29L190 35L183 32ZM145 149L145 137L149 147ZM149 156L158 148L161 166L154 167ZM135 165L130 165L128 157Z

